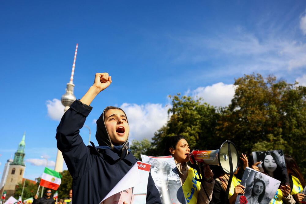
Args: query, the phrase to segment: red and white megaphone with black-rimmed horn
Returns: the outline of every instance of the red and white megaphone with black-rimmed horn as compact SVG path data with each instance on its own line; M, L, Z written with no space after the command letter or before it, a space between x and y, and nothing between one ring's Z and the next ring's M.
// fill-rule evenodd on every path
M230 174L229 149L231 152L233 172L236 172L239 165L238 151L234 143L229 140L223 142L219 149L201 151L193 149L189 153L189 161L191 164L194 164L193 157L196 162L218 165L226 174Z

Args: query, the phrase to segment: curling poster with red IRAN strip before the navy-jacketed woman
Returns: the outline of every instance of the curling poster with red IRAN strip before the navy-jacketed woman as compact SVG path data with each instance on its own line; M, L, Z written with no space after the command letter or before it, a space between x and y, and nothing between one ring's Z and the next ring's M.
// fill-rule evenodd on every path
M150 164L137 161L99 204L145 204Z

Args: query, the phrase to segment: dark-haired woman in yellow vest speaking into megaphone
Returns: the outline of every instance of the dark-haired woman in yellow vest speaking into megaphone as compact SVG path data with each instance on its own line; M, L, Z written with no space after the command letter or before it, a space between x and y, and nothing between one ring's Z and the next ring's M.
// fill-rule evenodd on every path
M209 165L204 165L204 177L205 181L202 185L207 191L204 192L201 183L195 178L199 179L198 172L193 168L189 167L187 162L189 161L189 145L183 136L170 137L166 142L166 149L164 153L166 155L172 155L176 162L178 174L180 176L183 192L185 195L186 203L188 204L204 204L209 203L211 200L212 192L215 184L213 179L213 172L209 168Z

